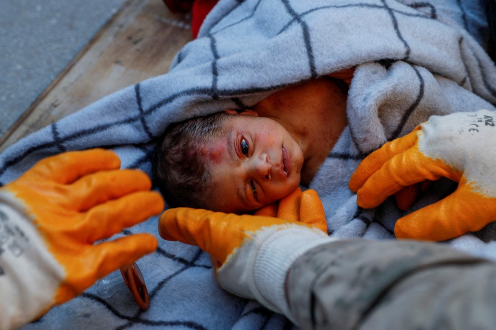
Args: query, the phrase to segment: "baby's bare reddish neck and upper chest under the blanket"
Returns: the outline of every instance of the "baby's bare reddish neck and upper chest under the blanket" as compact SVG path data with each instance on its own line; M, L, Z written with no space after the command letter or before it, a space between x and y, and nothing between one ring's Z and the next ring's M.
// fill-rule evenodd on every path
M301 184L308 186L347 125L346 99L328 78L287 87L257 103L259 116L279 122L298 142L305 158Z

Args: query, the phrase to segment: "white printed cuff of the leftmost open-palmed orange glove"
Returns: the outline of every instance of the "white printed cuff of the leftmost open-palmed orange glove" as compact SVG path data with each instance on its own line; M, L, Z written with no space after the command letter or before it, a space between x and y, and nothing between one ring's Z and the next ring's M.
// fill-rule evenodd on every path
M0 192L0 329L17 329L48 311L63 277L23 207Z

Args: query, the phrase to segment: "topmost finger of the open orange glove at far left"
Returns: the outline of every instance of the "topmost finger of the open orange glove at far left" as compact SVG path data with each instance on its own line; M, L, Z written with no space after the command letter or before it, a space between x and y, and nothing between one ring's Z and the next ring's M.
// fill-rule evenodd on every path
M121 160L115 152L97 148L45 158L28 172L60 184L70 184L84 175L115 170L120 166Z

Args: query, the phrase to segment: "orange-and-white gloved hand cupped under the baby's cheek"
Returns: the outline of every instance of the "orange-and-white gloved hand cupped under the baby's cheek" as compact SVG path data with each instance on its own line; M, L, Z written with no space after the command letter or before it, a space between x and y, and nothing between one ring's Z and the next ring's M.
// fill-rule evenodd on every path
M275 218L277 215L278 218ZM317 229L313 224L319 224ZM325 215L322 203L314 190L300 189L280 200L278 207L269 205L255 215L236 215L202 209L175 208L165 211L159 221L160 236L168 240L179 240L199 246L210 254L217 281L226 290L239 296L257 299L271 308L281 311L285 299L285 267L272 264L270 276L260 275L266 267L257 267L256 257L263 251L266 239L277 239L285 230L301 231L298 239L305 240L307 233L311 242L317 237L328 238L325 231ZM297 239L297 240L298 240ZM291 263L300 252L298 241L288 241L285 247L287 258L277 262ZM279 290L278 297L264 296L256 285L256 277L271 277ZM280 283L282 281L282 283ZM282 291L282 293L281 293ZM277 295L277 294L276 294Z

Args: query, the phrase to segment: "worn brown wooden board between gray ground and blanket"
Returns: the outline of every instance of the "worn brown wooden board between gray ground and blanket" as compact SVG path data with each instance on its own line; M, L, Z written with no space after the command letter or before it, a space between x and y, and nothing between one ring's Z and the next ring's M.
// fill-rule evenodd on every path
M129 0L0 139L0 152L92 102L166 73L192 39L189 17L162 0Z

